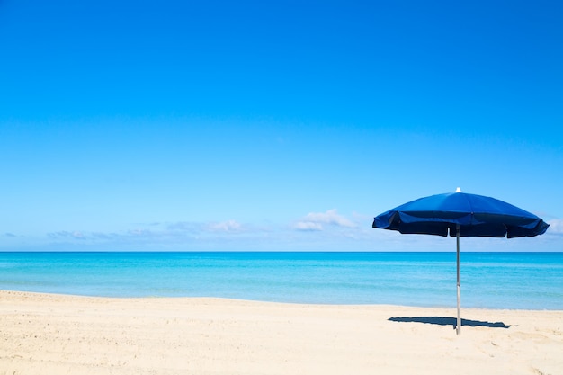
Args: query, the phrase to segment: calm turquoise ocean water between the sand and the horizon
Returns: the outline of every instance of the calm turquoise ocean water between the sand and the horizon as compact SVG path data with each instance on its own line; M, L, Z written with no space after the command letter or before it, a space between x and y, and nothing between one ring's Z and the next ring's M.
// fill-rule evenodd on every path
M0 253L0 289L456 306L455 253ZM461 253L462 308L563 310L563 253Z

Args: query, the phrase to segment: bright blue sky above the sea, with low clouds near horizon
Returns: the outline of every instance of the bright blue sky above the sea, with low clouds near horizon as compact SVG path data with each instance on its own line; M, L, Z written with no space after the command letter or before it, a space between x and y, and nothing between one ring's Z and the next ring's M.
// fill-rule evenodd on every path
M458 3L0 0L0 250L453 250L371 222L460 186L563 251L563 5Z

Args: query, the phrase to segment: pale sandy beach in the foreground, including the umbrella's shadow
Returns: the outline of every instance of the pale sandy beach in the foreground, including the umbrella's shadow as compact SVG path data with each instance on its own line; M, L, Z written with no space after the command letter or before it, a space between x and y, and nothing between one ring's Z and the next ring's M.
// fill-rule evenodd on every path
M563 374L563 311L0 291L0 374Z

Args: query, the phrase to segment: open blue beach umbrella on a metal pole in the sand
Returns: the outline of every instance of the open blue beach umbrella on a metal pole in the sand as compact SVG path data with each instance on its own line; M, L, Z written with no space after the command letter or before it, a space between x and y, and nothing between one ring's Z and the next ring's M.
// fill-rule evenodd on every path
M458 321L460 312L460 237L534 237L550 227L536 215L505 201L477 194L456 192L409 201L383 212L373 220L373 228L398 230L402 234L422 234L457 238Z

